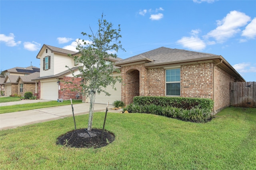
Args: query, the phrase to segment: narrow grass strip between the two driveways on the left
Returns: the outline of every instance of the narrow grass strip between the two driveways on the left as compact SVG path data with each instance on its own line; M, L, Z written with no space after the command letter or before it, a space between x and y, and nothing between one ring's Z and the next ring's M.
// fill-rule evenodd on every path
M79 103L82 103L82 100L72 100L72 103L79 104ZM69 104L71 104L70 100L63 100L63 102L50 101L50 102L38 102L38 103L31 103L31 104L17 104L12 106L1 106L0 114L16 112L16 111L40 109L45 107L64 106Z

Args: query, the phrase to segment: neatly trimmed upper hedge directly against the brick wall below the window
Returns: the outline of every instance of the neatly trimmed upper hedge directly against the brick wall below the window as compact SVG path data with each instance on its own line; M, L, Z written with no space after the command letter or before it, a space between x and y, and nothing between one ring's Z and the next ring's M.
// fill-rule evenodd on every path
M214 101L207 98L181 98L181 97L165 97L165 96L136 96L133 98L135 105L150 105L156 106L170 106L190 110L198 107L206 109L207 111L213 110Z

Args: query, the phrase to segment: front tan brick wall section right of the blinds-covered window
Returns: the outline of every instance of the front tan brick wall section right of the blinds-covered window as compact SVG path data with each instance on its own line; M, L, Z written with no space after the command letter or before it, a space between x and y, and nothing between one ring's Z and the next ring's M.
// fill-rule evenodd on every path
M182 65L180 68L180 96L213 98L213 63Z

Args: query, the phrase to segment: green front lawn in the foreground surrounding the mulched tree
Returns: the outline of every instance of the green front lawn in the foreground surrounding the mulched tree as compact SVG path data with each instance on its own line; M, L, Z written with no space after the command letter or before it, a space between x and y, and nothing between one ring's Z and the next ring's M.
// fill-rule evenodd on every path
M85 128L88 114L76 116ZM104 112L94 113L102 128ZM142 113L108 113L116 139L99 149L56 145L72 131L72 117L0 131L0 169L255 170L256 109L228 107L208 123Z

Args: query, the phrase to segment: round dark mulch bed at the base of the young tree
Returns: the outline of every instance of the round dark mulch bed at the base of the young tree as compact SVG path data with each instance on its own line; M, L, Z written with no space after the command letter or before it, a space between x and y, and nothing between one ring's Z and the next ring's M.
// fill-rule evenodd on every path
M92 131L77 129L58 137L56 144L75 148L100 148L114 140L113 133L104 131L102 134L102 129L92 129Z

